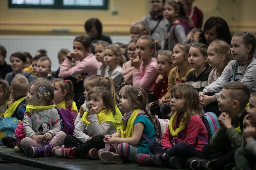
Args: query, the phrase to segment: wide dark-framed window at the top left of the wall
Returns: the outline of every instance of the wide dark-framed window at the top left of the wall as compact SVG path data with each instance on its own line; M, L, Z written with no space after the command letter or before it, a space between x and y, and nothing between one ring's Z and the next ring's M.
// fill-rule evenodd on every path
M9 8L107 10L108 0L8 0Z

